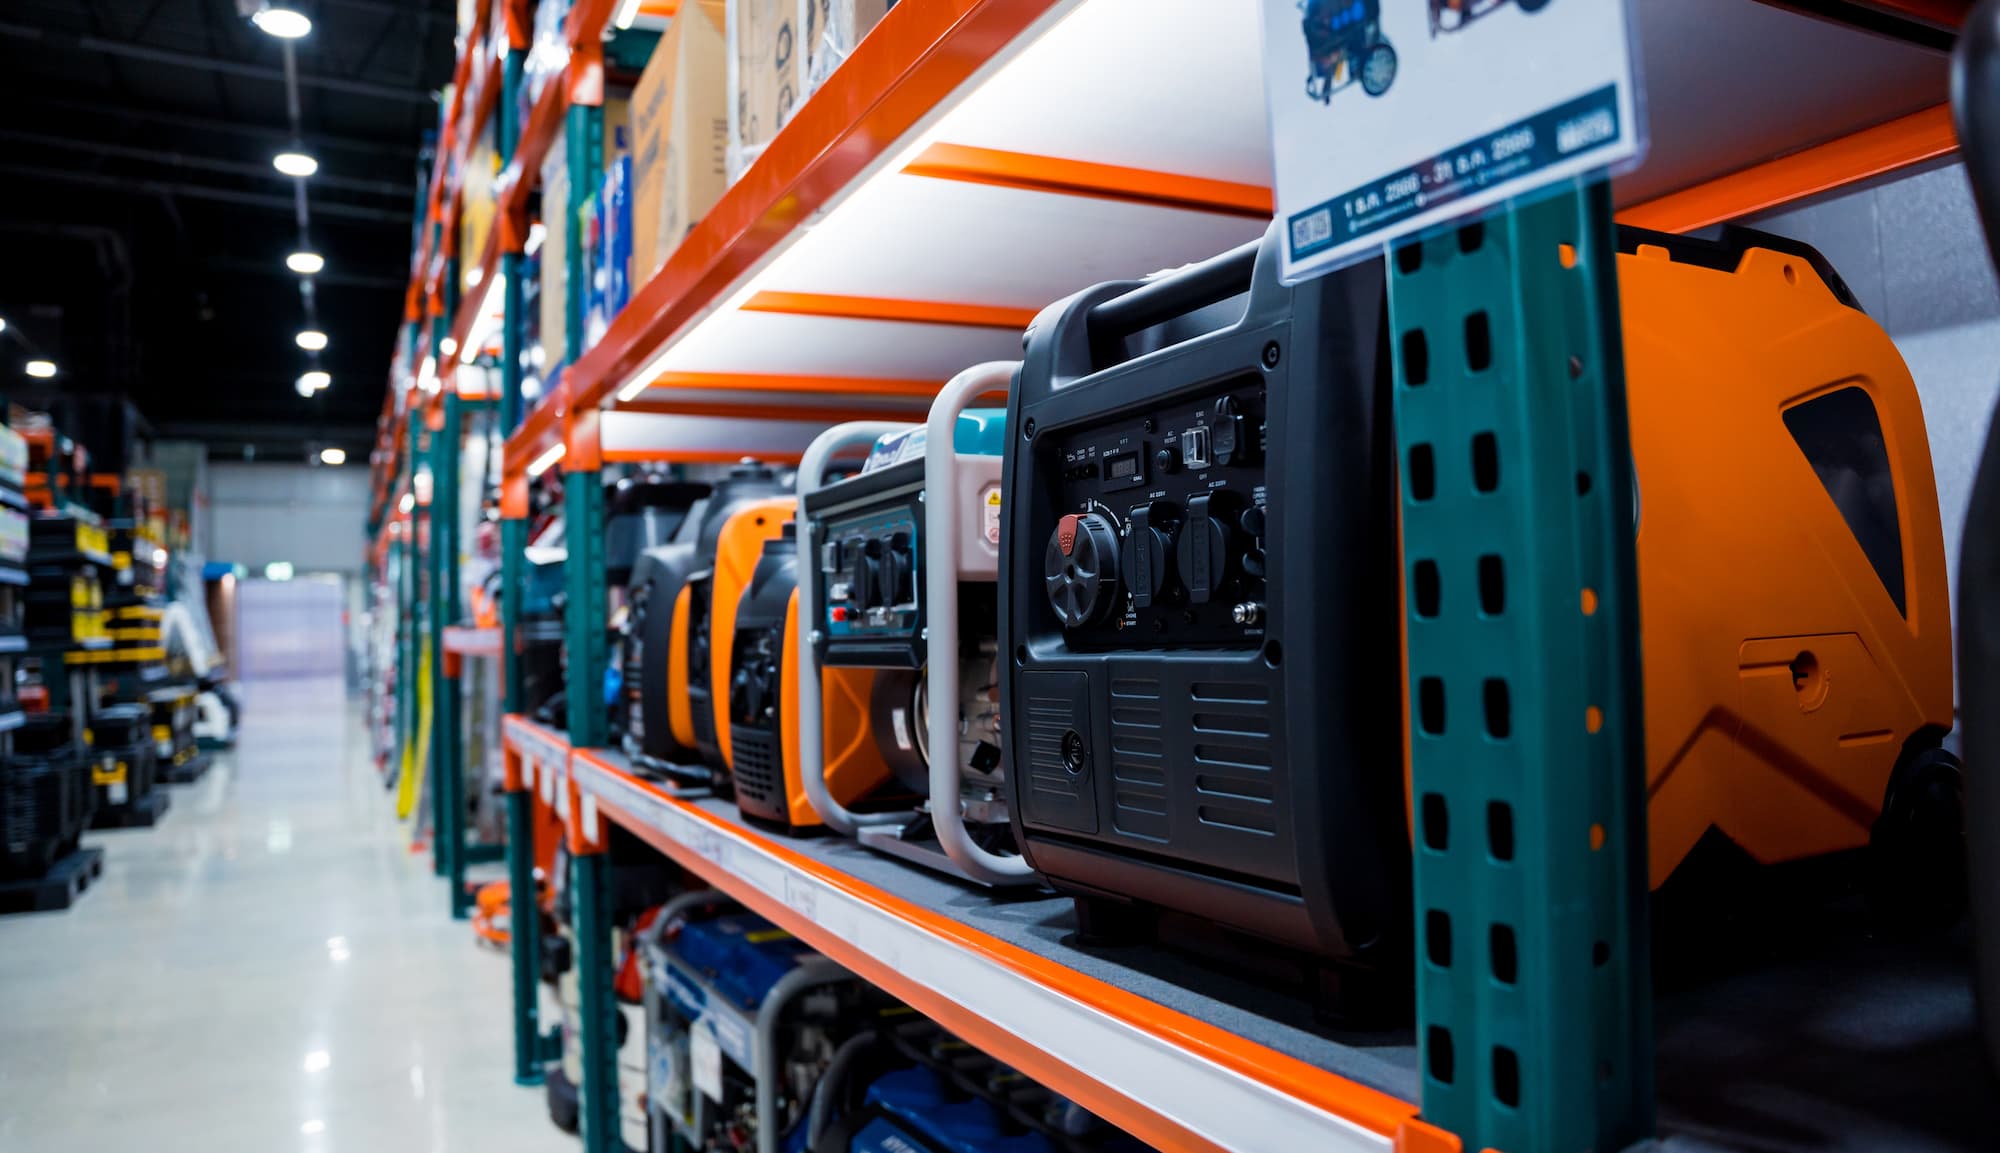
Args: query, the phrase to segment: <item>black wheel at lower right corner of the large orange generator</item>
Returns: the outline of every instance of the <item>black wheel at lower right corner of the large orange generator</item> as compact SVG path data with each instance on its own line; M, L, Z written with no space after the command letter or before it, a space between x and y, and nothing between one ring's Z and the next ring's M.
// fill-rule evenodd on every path
M1966 791L1958 757L1908 745L1868 835L1868 905L1880 929L1942 933L1966 911Z

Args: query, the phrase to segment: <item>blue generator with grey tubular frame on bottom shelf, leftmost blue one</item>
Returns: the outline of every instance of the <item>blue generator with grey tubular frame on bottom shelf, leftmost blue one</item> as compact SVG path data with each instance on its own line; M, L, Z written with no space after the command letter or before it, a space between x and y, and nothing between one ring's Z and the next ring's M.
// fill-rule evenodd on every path
M640 935L652 1151L798 1149L834 1049L882 997L720 893Z

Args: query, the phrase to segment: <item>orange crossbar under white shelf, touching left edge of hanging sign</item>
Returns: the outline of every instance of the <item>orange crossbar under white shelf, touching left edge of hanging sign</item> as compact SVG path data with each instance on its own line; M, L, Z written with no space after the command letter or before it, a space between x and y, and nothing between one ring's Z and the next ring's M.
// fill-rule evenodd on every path
M1146 168L1124 168L1120 164L1092 164L1090 160L1032 156L1028 152L1002 152L998 148L972 148L966 144L932 144L916 160L904 164L902 174L1024 188L1030 192L1056 192L1062 196L1124 200L1128 204L1188 208L1252 220L1270 220L1272 214L1270 188L1262 184L1178 176Z

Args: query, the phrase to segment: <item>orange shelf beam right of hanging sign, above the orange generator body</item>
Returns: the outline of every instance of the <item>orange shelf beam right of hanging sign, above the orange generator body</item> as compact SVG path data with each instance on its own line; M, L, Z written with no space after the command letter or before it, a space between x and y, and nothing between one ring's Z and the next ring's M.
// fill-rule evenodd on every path
M1856 180L1942 160L1958 152L1950 104L1898 116L1838 140L1752 164L1618 212L1620 224L1688 232L1820 196Z

